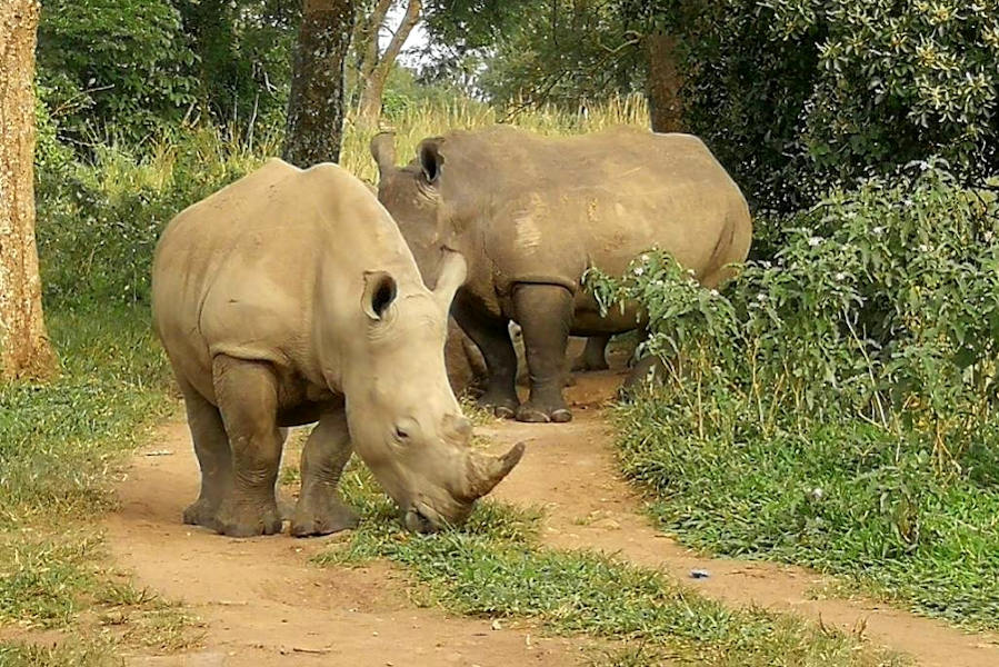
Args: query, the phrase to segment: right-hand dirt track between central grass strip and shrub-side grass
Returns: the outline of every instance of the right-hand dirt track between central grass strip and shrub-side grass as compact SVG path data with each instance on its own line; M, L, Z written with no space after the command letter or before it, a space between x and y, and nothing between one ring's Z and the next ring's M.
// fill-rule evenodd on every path
M809 599L808 590L828 579L798 567L703 557L657 531L641 515L641 500L616 472L612 434L600 415L600 405L620 381L613 371L579 377L569 389L576 407L568 425L497 422L479 429L497 451L528 444L523 460L494 495L543 506L546 542L603 550L660 568L730 606L757 605L821 618L846 630L865 628L873 643L910 654L926 667L999 666L995 635L965 634L870 600ZM695 568L707 569L710 577L691 579Z

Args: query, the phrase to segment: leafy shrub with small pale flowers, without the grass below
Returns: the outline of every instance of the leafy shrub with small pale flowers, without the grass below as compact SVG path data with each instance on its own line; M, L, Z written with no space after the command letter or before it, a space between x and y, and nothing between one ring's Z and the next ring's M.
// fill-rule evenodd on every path
M596 289L642 302L651 352L722 365L796 415L902 416L942 448L995 399L997 225L993 192L918 163L776 222L773 261L750 261L728 297L661 252Z

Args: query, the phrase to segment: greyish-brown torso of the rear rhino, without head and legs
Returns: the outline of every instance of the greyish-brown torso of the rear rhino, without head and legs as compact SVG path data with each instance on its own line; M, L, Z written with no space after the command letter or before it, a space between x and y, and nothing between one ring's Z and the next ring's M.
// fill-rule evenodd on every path
M749 225L745 199L689 135L622 128L545 138L502 128L446 140L443 198L477 193L459 210L477 211L500 291L512 282L576 290L587 267L620 273L653 246L699 276L745 258L717 251L733 220Z

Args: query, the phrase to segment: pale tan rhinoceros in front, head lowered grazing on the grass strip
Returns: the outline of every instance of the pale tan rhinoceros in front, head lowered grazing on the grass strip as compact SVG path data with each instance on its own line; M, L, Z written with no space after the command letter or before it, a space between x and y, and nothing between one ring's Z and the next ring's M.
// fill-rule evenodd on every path
M430 291L389 213L334 165L271 160L170 222L152 308L201 465L186 522L279 531L282 427L317 420L293 535L354 525L337 492L351 449L410 529L468 517L523 447L502 457L469 448L443 359L466 265L446 251L439 266Z

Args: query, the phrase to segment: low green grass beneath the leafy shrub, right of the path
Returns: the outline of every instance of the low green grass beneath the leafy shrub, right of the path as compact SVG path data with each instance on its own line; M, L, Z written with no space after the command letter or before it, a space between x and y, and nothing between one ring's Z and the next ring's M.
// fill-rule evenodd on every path
M945 475L915 431L842 420L761 432L750 405L705 397L705 437L676 397L621 406L626 476L687 545L811 566L971 628L999 628L999 454ZM711 414L711 410L718 411ZM899 427L900 429L902 427ZM818 489L818 490L817 490Z

